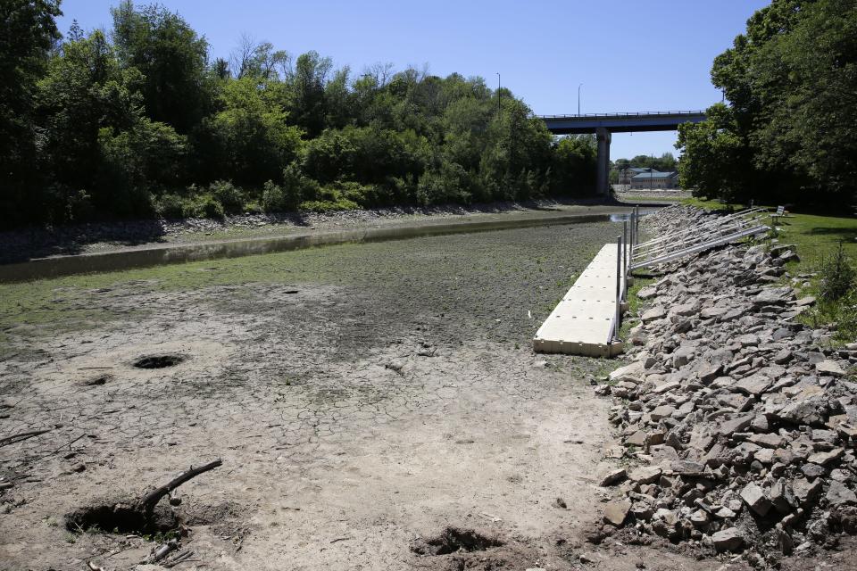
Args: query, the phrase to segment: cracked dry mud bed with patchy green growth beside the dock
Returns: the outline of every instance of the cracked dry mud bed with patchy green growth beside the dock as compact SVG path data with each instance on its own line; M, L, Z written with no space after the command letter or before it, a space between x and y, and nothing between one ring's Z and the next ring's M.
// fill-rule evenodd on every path
M589 379L614 363L529 343L616 232L0 285L16 297L0 311L0 437L50 429L0 447L0 568L134 568L162 538L79 533L65 515L217 458L179 488L193 554L176 569L720 567L583 539L615 467Z

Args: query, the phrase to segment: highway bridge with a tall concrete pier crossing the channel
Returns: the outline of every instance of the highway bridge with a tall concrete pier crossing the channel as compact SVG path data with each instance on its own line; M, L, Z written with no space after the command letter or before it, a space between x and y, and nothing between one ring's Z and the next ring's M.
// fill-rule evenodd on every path
M611 133L674 131L681 123L705 120L704 111L639 113L587 113L584 115L537 115L554 135L595 133L598 138L598 194L610 192Z

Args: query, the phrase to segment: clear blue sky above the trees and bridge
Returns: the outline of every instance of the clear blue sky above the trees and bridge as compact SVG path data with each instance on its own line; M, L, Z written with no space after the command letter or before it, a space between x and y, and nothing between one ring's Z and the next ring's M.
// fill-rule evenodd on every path
M62 32L112 23L114 0L63 0ZM136 4L148 4L137 2ZM354 71L374 62L481 76L538 114L703 109L709 71L763 0L162 0L229 55L242 32L291 54L316 50ZM616 134L613 159L674 152L675 133Z

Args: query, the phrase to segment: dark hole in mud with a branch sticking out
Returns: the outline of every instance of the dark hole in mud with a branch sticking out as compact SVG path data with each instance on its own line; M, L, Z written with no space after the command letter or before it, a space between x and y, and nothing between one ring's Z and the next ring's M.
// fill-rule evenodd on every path
M166 507L157 507L152 517L129 504L115 503L75 509L65 516L65 527L71 532L101 531L117 534L155 534L179 527L179 517Z

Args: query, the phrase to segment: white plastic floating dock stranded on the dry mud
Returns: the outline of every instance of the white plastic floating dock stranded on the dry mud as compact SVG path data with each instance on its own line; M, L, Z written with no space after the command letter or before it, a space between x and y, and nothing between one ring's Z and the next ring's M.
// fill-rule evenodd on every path
M591 357L612 357L622 351L622 343L612 340L618 250L616 244L606 244L589 262L539 327L533 338L535 351Z

